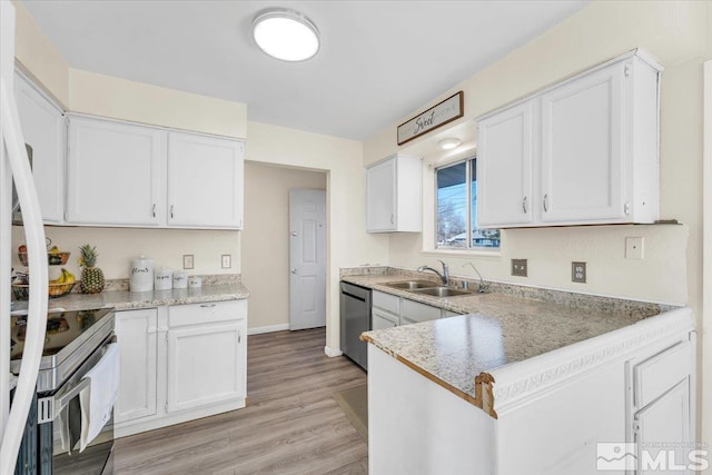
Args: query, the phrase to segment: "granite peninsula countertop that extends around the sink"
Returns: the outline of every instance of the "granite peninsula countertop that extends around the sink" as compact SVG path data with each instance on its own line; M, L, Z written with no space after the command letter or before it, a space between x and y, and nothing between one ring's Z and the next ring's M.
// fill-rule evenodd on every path
M595 296L577 294L567 294L568 300L561 297L562 303L496 290L436 298L383 285L412 278L397 274L342 276L352 284L468 315L366 331L362 339L477 406L482 400L478 383L483 376L492 378L491 372L634 325L665 309L606 297L596 305Z

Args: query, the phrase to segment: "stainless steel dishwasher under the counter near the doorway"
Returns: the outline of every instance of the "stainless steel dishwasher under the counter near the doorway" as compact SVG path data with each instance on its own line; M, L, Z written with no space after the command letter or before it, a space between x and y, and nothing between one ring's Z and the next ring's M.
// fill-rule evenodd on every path
M342 281L342 352L368 369L368 346L358 339L370 329L370 289Z

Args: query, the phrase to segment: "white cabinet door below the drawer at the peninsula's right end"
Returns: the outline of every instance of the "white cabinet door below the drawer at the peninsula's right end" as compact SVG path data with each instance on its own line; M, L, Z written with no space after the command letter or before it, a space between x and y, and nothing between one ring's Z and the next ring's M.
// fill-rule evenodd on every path
M637 474L660 473L646 461L664 461L668 467L685 466L693 441L690 420L690 383L689 378L678 384L662 397L635 414L634 429L637 443ZM675 445L670 447L669 444ZM643 454L643 451L646 453ZM659 454L660 451L666 452ZM691 474L692 471L674 473Z

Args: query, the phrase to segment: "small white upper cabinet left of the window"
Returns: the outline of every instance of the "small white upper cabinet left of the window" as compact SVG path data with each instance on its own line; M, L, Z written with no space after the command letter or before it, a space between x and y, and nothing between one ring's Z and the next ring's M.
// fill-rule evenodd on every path
M409 231L423 228L423 164L395 155L366 169L366 230Z

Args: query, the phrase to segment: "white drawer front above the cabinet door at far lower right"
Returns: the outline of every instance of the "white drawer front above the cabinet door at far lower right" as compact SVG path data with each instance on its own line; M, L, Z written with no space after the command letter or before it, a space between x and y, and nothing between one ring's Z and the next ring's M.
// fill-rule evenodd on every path
M690 376L692 344L679 343L633 368L635 406L645 407Z

